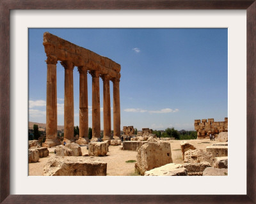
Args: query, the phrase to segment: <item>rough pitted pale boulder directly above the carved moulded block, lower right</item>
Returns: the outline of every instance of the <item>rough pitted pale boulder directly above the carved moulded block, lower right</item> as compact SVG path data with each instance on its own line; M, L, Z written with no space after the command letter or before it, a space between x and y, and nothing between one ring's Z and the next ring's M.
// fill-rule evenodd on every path
M203 161L212 164L212 154L210 152L205 152L202 149L190 149L184 153L184 163L202 163Z

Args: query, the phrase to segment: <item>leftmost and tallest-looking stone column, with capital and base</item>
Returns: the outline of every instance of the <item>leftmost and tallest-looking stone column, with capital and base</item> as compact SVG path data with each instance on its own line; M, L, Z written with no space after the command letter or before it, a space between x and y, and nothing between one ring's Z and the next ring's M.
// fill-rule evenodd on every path
M60 145L57 140L57 90L56 90L56 56L47 56L47 93L46 93L46 140L42 147Z

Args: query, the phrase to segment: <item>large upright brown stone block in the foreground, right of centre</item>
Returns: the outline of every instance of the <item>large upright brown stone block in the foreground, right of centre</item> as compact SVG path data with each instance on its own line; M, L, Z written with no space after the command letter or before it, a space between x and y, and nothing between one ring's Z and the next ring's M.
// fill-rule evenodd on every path
M135 169L140 175L144 175L145 171L168 163L172 163L170 143L149 142L142 145L138 150Z

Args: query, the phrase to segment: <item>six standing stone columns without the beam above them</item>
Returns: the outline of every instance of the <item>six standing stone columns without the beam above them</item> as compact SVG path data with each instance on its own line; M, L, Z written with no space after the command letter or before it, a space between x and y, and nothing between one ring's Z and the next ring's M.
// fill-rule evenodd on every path
M56 93L56 64L57 58L47 57L47 102L46 102L46 140L43 146L60 145L57 140L57 93ZM64 140L74 142L74 87L71 61L62 61L65 68L65 99L64 99ZM86 144L88 140L88 87L87 69L79 66L79 140L77 143ZM100 75L99 71L89 71L92 75L92 140L100 138L100 87L99 77L103 80L103 140L111 139L111 106L109 80L113 82L113 128L114 138L120 138L120 94L118 78Z

